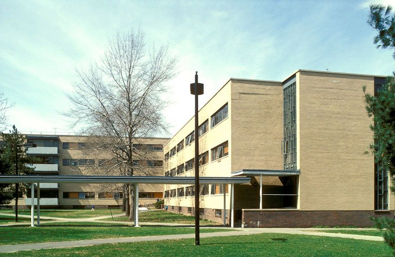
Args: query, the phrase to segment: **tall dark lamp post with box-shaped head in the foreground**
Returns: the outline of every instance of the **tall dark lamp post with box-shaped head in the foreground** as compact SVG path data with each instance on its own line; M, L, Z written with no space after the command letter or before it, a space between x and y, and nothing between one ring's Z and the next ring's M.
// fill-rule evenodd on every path
M197 72L195 83L190 85L191 94L195 95L195 245L200 245L199 224L199 118L198 118L198 95L203 95L203 84L198 83Z

